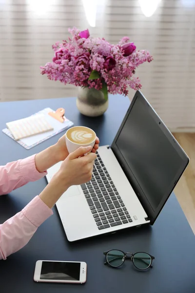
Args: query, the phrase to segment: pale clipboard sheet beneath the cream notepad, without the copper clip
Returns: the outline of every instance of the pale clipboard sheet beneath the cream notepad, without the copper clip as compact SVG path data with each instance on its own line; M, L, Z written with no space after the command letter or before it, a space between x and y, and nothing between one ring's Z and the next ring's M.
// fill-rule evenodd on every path
M10 138L12 138L14 141L19 143L21 146L25 147L26 149L30 149L33 146L37 146L40 143L44 142L45 140L49 139L50 137L53 137L54 135L57 135L58 133L68 129L69 127L72 127L74 124L72 121L65 118L65 121L63 123L59 122L55 118L48 115L49 112L52 112L53 110L51 108L45 108L37 113L35 113L32 116L43 114L46 121L49 123L49 125L52 126L52 130L49 130L44 133L39 133L30 137L26 137L20 140L15 140L12 133L9 131L8 128L2 129L2 132L8 135Z

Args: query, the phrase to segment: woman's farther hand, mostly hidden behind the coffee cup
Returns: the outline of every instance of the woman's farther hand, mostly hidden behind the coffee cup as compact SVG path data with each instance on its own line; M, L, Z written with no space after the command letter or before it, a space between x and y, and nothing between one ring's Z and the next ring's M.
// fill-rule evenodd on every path
M59 141L55 145L56 147L56 155L58 156L58 161L64 161L67 156L69 155L67 147L66 147L66 136L65 134L60 137ZM99 139L96 137L96 143L94 148L92 149L92 152L95 153L99 147Z

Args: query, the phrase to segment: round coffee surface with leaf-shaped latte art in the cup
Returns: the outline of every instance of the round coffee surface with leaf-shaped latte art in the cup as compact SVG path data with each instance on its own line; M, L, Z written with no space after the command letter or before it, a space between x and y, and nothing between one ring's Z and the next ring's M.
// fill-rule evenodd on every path
M84 126L74 126L66 132L67 138L79 145L91 144L96 139L96 133Z

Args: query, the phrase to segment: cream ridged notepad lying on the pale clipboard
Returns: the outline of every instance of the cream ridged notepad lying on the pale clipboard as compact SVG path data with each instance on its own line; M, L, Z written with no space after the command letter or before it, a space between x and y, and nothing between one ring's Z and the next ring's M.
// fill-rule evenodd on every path
M38 114L6 123L15 140L53 130L44 114Z

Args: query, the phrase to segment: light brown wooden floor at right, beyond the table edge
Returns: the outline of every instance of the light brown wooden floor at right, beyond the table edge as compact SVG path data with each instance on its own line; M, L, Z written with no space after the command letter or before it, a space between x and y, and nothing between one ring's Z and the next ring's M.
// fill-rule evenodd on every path
M174 190L177 200L195 233L195 133L174 133L190 158L190 164Z

